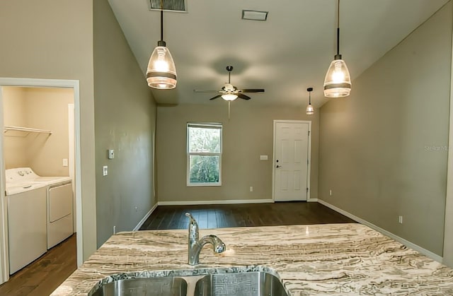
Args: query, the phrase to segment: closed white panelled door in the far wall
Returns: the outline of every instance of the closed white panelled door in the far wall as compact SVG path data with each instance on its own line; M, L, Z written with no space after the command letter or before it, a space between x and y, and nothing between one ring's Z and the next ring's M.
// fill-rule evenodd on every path
M306 201L310 122L274 122L274 200Z

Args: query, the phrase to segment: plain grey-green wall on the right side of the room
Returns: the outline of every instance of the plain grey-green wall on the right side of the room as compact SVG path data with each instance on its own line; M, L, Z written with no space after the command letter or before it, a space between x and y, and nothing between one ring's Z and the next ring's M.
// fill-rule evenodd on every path
M450 2L320 119L319 199L440 256L451 54Z

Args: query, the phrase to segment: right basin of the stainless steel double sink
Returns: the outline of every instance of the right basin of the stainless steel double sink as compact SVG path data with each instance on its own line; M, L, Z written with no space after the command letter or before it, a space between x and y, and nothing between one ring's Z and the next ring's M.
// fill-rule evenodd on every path
M195 285L195 296L288 296L282 282L270 273L215 273Z

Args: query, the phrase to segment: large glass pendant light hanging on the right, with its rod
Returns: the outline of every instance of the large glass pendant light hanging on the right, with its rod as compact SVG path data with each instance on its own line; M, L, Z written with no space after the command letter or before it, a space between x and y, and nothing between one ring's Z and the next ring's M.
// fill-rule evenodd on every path
M340 54L340 0L337 15L337 54L328 67L324 79L324 95L326 97L347 97L351 91L351 78L345 61Z

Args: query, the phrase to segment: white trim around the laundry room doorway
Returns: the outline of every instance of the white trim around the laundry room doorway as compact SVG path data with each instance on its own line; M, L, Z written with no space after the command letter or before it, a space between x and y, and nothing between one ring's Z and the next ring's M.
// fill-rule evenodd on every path
M72 88L74 90L74 136L75 136L75 195L77 224L77 266L83 262L82 206L81 206L81 148L80 148L80 90L78 80L36 79L36 78L0 78L0 106L3 106L2 90L4 86L34 88ZM4 128L3 112L0 112L0 128ZM3 136L0 136L0 182L5 188L5 163L3 157ZM5 191L0 191L0 283L9 279L8 227Z

